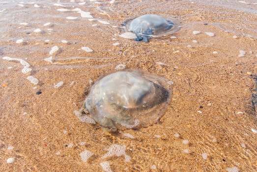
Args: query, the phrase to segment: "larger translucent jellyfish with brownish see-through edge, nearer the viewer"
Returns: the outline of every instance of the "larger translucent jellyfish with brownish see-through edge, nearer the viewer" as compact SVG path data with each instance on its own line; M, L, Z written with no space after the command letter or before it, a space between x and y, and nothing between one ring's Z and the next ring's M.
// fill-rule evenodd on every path
M91 87L84 112L109 131L147 127L158 121L171 100L168 82L142 70L105 75Z

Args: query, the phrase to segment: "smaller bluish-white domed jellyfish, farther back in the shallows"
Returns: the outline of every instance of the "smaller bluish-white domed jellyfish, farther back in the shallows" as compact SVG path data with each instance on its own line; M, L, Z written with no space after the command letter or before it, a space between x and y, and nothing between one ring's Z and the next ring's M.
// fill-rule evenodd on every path
M174 32L178 27L176 22L171 19L165 19L161 16L154 14L147 14L135 18L129 24L128 30L134 32L137 35L136 41L148 42L152 35L158 36L161 34L168 34Z

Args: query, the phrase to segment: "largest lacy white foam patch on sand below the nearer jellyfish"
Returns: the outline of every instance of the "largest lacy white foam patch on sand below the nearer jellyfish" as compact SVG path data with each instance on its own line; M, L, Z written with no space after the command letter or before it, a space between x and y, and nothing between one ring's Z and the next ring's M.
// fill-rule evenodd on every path
M125 162L129 162L130 161L130 156L127 155L125 153L125 150L126 150L126 145L119 145L119 144L112 144L109 148L108 148L108 151L106 154L103 155L102 158L107 158L107 157L110 157L110 156L122 156L124 155L124 158L125 158Z

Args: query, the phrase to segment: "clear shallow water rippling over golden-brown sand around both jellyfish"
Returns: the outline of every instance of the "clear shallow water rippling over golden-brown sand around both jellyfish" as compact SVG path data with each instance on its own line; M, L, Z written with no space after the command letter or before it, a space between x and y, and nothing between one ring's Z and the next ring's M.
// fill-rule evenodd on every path
M256 11L256 0L0 0L0 171L257 171ZM181 29L118 36L149 13ZM124 67L173 82L160 121L118 135L82 122L93 82Z

